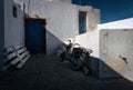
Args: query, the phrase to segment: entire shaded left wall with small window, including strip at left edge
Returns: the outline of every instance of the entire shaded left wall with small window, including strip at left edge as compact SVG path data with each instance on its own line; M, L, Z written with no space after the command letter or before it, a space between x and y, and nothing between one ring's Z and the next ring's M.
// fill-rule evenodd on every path
M12 0L0 0L0 70L3 67L3 50L24 43L23 11Z

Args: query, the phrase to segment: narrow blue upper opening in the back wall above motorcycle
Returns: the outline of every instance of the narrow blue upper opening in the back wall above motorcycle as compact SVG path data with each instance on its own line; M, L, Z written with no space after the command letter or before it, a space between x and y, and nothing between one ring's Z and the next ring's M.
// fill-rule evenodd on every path
M79 12L79 33L86 32L86 12Z

